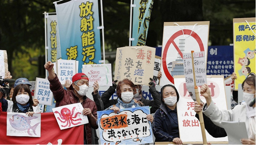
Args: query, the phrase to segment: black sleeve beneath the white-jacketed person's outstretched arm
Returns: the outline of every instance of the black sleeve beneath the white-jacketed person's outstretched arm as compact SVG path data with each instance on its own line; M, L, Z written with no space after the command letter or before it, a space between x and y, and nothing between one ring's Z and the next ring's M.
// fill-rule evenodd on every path
M195 117L199 120L199 115L196 114ZM217 125L215 125L212 120L210 120L209 117L207 117L205 114L203 114L203 121L205 123L205 129L208 131L212 137L218 138L218 137L226 137L227 133L224 130L224 128L221 128Z

